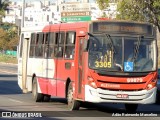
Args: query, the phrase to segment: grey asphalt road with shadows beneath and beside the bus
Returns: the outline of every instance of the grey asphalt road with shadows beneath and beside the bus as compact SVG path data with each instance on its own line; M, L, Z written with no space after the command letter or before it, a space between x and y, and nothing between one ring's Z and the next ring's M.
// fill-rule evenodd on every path
M32 94L23 94L17 84L17 65L0 64L0 117L38 119L159 119L160 105L139 105L137 113L126 113L123 104L83 103L79 111L69 111L66 100L52 97L50 102L35 103ZM37 116L36 116L37 115ZM42 116L42 117L41 117ZM140 117L142 116L142 117ZM128 118L130 117L130 118ZM1 118L0 118L1 119ZM108 118L107 118L108 119Z

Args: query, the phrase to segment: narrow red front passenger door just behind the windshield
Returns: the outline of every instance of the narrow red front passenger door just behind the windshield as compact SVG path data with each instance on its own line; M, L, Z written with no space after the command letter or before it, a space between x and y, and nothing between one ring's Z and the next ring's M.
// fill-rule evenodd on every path
M79 51L78 51L78 81L77 81L77 90L78 90L78 98L83 99L83 45L84 45L83 37L79 37Z

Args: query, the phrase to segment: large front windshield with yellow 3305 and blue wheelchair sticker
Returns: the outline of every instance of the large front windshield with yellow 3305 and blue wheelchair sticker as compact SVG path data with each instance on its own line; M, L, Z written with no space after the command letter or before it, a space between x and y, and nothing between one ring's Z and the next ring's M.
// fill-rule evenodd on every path
M106 71L153 71L156 69L155 48L153 39L92 35L89 38L89 67Z

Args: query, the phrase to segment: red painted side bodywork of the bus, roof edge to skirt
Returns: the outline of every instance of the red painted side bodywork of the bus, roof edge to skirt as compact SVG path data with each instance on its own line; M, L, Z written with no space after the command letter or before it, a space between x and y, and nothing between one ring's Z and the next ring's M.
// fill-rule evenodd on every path
M46 26L43 29L43 32L66 32L66 31L75 31L76 32L76 41L78 41L78 36L83 36L89 29L89 23L80 22L74 24L54 24ZM75 58L78 58L78 42L75 44ZM66 81L67 79L71 79L72 82L75 82L73 85L76 86L75 91L77 91L77 77L78 76L78 60L65 60L65 59L57 59L54 58L54 62L56 64L55 74L53 78L38 78L39 86L44 94L50 94L53 96L58 96L65 98L66 97ZM71 64L71 69L65 69L65 63ZM75 97L78 94L75 93ZM83 90L83 99L84 99L84 90Z

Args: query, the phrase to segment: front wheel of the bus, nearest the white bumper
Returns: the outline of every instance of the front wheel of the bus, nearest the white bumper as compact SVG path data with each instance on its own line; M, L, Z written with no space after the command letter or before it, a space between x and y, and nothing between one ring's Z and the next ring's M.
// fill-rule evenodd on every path
M69 83L68 86L67 102L68 102L68 108L70 110L79 110L80 101L74 100L73 98L73 87L71 82Z

